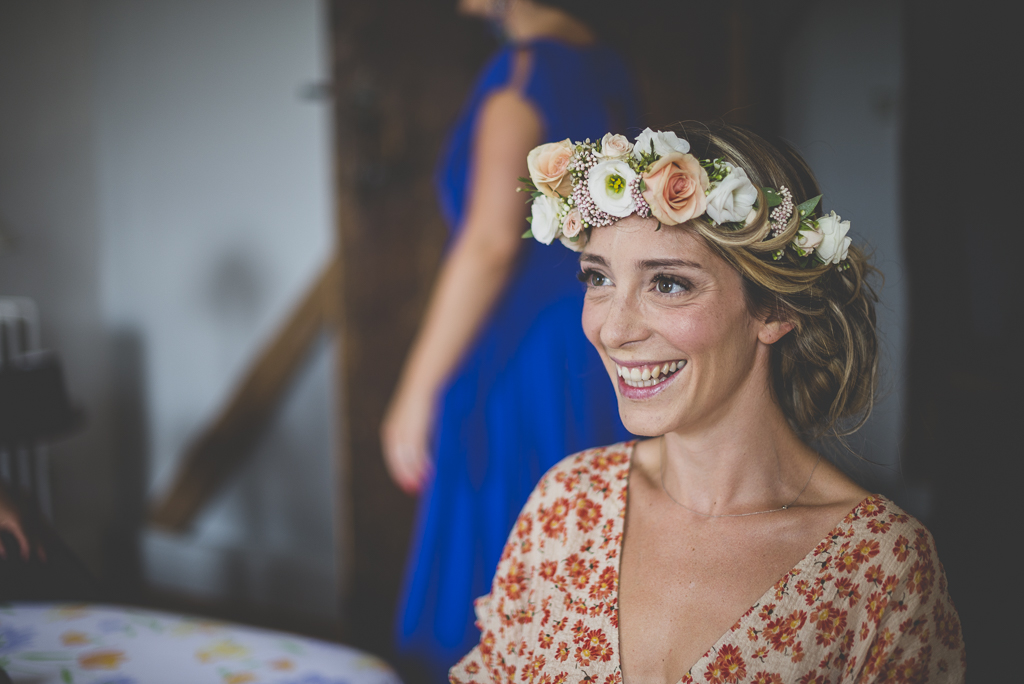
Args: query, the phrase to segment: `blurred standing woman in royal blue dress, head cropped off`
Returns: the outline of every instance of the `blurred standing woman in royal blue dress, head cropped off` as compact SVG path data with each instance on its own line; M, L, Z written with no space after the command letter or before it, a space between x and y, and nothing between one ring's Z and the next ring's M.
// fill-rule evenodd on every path
M391 476L421 494L398 650L436 681L476 643L472 601L541 475L566 454L628 436L581 332L577 260L521 240L525 198L508 181L527 175L523 160L545 140L637 125L626 67L578 18L577 7L600 4L460 3L509 42L442 155L450 244L381 426Z

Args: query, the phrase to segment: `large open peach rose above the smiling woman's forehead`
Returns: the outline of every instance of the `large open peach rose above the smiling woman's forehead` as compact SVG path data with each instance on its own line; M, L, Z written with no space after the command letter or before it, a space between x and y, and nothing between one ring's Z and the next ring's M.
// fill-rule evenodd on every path
M693 155L670 153L654 162L643 179L643 199L665 225L685 223L708 208L708 172Z

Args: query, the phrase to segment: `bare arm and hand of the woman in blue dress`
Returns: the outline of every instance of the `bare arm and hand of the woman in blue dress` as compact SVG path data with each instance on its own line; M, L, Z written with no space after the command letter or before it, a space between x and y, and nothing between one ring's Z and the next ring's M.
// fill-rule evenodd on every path
M480 109L464 225L441 265L381 425L385 463L404 491L419 491L427 477L440 388L512 273L526 227L516 178L527 175L526 155L542 133L537 111L514 89L496 91Z

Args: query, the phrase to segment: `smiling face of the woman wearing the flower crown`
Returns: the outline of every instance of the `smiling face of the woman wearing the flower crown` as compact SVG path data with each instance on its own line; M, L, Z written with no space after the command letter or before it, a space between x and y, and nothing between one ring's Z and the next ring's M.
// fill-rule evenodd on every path
M636 215L595 228L580 257L583 327L639 435L711 426L768 383L766 324L703 240Z

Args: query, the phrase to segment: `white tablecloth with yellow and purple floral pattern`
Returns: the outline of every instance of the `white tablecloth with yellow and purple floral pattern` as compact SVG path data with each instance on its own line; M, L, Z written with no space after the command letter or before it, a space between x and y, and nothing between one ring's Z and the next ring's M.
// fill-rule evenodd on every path
M105 605L0 605L0 668L15 684L400 684L346 646Z

